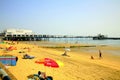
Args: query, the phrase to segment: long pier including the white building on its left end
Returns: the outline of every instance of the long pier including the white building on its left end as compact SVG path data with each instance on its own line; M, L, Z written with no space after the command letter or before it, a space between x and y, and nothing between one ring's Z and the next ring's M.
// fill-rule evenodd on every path
M8 41L48 41L49 38L91 38L91 36L45 35L35 34L32 30L7 29L1 33L3 40Z

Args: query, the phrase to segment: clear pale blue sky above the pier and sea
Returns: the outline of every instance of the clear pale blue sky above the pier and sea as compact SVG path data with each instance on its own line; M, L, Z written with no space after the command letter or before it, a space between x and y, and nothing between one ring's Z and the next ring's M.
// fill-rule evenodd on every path
M0 31L120 37L120 0L0 0Z

